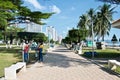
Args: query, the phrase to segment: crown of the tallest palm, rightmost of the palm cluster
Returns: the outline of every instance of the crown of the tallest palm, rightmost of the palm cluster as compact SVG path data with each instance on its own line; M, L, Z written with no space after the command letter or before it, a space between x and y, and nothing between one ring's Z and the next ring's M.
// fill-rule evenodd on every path
M103 6L100 6L100 11L97 12L97 22L95 26L96 35L102 37L103 41L104 36L109 35L109 31L111 29L110 21L112 21L112 14L114 13L114 8L111 8L111 5L104 4Z

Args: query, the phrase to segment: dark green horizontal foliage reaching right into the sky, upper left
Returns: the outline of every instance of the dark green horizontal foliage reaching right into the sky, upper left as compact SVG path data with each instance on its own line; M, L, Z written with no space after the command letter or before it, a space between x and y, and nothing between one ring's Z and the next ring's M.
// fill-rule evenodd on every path
M16 18L18 23L34 22L36 24L44 25L42 19L48 19L53 13L42 13L40 11L32 12L27 7L21 6L19 8L18 16Z

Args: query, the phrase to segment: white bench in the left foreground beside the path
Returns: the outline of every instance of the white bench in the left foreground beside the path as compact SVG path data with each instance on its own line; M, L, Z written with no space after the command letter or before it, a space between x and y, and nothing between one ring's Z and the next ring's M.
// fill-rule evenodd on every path
M17 80L17 71L26 71L26 63L18 62L4 69L5 80Z

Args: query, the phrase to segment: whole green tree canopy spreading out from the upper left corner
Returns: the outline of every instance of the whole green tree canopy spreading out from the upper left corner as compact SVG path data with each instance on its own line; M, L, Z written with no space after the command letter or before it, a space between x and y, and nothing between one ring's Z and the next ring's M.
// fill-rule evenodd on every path
M48 19L53 13L31 11L22 5L22 0L0 0L0 30L14 23L34 22L44 25L42 19Z

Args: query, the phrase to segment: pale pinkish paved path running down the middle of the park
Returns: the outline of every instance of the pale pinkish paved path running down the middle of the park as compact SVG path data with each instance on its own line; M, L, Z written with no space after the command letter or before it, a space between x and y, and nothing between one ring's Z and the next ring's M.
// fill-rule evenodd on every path
M35 63L18 80L120 80L89 60L59 46Z

